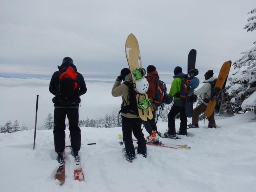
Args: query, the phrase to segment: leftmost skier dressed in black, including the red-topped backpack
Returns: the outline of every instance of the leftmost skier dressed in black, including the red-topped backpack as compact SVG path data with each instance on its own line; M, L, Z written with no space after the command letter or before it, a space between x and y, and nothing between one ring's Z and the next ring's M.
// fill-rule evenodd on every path
M65 149L66 116L69 121L73 154L79 160L78 151L81 147L81 130L78 126L79 96L85 94L87 88L84 77L77 72L72 58L65 57L58 69L52 75L49 91L55 96L52 99L54 102L54 148L58 154L58 162L61 165L63 164ZM67 95L64 95L64 93Z

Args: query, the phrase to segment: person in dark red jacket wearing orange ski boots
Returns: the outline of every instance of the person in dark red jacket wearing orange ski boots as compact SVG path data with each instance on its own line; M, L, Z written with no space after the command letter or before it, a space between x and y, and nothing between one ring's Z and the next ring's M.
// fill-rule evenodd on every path
M153 102L156 96L156 80L159 80L158 72L156 71L156 67L154 65L149 65L147 67L147 76L145 76L145 78L148 81L148 98L151 100L151 102ZM147 121L142 121L142 124L144 125L149 134L149 136L147 136L146 138L146 141L156 142L159 140L155 120L157 108L154 106L154 104L150 108L152 110L153 118L148 119Z

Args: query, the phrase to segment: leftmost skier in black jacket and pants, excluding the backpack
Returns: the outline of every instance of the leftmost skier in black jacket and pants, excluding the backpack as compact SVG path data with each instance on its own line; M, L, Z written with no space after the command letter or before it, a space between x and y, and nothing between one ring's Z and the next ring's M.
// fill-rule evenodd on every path
M72 104L64 105L62 102L60 102L61 95L59 94L59 76L60 71L64 70L68 67L72 67L74 72L77 73L77 100L73 102ZM50 81L49 91L55 95L55 97L52 99L54 102L54 147L55 151L58 154L58 162L60 164L63 163L63 152L65 148L65 119L66 116L68 117L69 122L69 130L70 130L70 136L71 136L71 146L72 150L74 152L75 158L78 160L78 151L81 147L81 130L78 127L78 108L80 103L79 96L86 93L87 88L86 84L84 82L84 77L82 74L78 73L76 70L76 66L73 63L72 58L65 57L62 61L62 65L58 66L59 71L54 72L52 75L52 79ZM78 89L78 90L77 90ZM64 98L65 99L65 98Z

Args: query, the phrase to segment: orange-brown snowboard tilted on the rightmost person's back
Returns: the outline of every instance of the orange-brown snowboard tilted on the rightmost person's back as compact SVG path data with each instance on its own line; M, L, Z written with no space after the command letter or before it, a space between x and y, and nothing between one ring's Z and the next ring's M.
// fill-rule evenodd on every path
M230 70L230 62L226 61L226 62L224 62L224 64L222 65L222 67L220 69L220 73L217 78L217 81L216 81L216 84L214 87L214 91L212 93L212 95L213 95L214 92L216 92L217 97L216 98L213 98L212 96L210 97L210 101L209 101L208 106L205 111L206 117L210 117L214 111L214 108L216 105L216 99L219 97L220 90L222 89L224 83L226 82L226 79L228 78L229 70Z

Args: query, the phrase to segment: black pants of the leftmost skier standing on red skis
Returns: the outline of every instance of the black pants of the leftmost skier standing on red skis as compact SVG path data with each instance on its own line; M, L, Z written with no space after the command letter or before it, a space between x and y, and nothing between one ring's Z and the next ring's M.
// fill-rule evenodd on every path
M68 117L70 142L74 151L81 147L81 130L78 127L78 108L55 108L54 109L54 147L55 152L63 152L65 149L65 119Z

